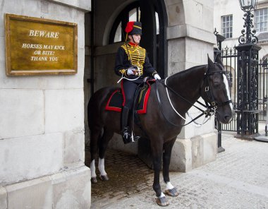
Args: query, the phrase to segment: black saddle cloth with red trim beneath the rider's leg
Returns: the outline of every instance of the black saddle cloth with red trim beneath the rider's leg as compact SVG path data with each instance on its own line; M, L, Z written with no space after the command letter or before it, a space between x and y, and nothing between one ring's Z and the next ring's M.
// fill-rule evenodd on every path
M147 112L147 102L150 96L151 91L151 83L154 83L155 80L146 80L142 85L138 86L135 98L134 98L134 107L135 112L138 114L146 114ZM122 89L118 88L114 92L111 93L108 102L106 103L106 110L121 112L123 106L123 93Z

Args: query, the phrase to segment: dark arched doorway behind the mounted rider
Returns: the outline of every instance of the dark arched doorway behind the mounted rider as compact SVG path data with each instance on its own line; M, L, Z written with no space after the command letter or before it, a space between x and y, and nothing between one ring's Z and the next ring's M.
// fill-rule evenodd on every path
M164 0L92 0L92 12L85 17L86 147L90 142L87 102L92 93L99 88L116 85L116 52L125 40L123 31L129 20L142 22L140 45L147 50L150 62L159 75L162 78L167 76L167 14Z

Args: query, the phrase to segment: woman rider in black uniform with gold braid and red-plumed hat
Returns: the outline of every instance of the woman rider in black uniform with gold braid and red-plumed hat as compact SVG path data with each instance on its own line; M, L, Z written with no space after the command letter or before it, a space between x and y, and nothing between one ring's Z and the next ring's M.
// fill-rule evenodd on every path
M126 25L126 42L118 48L116 54L116 66L114 71L121 76L121 86L124 95L123 108L121 113L121 133L124 143L138 141L139 136L130 134L128 128L128 115L133 107L135 90L146 76L152 76L160 80L157 71L150 64L146 49L140 47L140 38L142 35L142 23L128 22Z

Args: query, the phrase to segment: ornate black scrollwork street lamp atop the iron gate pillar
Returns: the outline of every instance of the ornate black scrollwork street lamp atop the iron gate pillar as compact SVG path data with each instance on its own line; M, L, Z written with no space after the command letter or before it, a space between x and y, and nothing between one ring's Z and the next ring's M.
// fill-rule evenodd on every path
M239 0L241 9L245 12L244 20L245 25L243 27L245 29L241 30L242 35L239 37L238 42L240 44L257 44L258 39L255 36L256 30L251 30L254 27L252 23L252 18L254 15L251 13L252 9L255 9L257 0Z

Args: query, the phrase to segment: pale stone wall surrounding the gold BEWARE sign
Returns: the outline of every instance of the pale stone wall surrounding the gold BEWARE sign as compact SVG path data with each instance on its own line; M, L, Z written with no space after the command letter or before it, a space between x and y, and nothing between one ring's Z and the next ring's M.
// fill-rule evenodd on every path
M0 1L0 208L90 208L83 93L90 4ZM4 13L77 23L78 73L6 76Z

